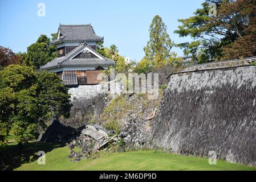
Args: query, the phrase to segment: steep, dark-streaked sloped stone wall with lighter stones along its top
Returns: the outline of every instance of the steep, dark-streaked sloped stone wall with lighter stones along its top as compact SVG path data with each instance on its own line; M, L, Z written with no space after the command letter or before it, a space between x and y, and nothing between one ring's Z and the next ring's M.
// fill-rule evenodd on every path
M152 145L174 153L256 166L256 67L170 77L153 121Z

